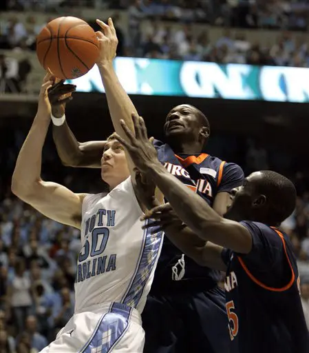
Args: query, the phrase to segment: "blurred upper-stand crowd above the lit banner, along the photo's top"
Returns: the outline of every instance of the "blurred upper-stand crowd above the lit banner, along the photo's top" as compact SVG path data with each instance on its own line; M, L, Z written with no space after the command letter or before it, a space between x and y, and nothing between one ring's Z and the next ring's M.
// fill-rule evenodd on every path
M76 3L76 0L72 1ZM48 0L12 1L12 6L14 4L17 8L18 6L27 8L27 6L41 6L42 3L48 3ZM56 3L61 4L61 1L51 1L53 6ZM89 6L102 4L104 1L81 0L79 3ZM133 2L109 1L105 4L107 7L127 9L127 29L120 23L119 14L115 12L113 15L120 42L119 56L309 67L308 37L305 33L309 24L309 0L234 0L220 1L220 6L216 3L211 0L135 0ZM70 0L65 1L65 4L70 5ZM179 8L185 10L179 12L177 10ZM209 8L218 12L214 22L207 20L207 14L211 13ZM223 18L220 12L224 12L226 17ZM54 17L59 15L61 14ZM45 23L52 18L46 17ZM176 19L178 26L167 21L169 19ZM143 23L145 24L143 20L146 20L145 26L143 26ZM201 31L195 28L198 21L215 25L220 23L225 28L222 37L215 41L209 39L206 29ZM36 17L32 15L26 17L25 21L19 21L14 16L3 17L0 19L0 49L34 51L36 35L45 23L38 23ZM89 24L98 29L95 19L89 20ZM233 26L280 28L284 31L278 36L277 43L270 45L259 41L253 42L241 31L232 33L228 28ZM297 29L302 30L303 35L291 32ZM7 63L7 66L9 67L7 75L10 72L12 76L11 71L14 74L17 72L14 63ZM2 66L1 72L3 72Z

